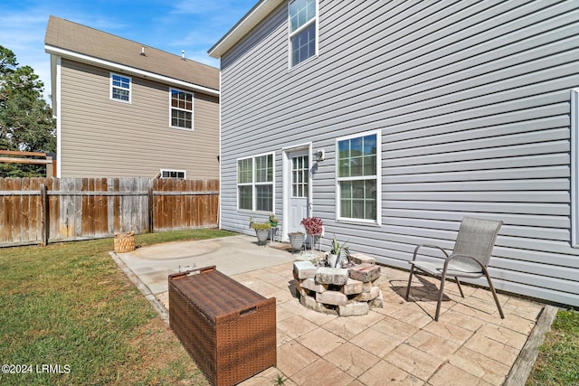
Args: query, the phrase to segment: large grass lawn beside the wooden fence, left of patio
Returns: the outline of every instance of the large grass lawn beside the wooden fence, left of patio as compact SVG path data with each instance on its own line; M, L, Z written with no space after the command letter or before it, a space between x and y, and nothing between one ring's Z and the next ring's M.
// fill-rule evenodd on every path
M231 234L172 231L136 241ZM112 239L0 249L0 384L207 384L112 249Z

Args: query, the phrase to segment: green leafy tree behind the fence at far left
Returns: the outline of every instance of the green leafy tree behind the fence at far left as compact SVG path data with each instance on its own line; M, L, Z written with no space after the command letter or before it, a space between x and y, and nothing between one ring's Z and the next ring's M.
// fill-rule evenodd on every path
M32 67L0 45L0 150L53 153L56 124ZM0 177L42 176L44 165L0 163Z

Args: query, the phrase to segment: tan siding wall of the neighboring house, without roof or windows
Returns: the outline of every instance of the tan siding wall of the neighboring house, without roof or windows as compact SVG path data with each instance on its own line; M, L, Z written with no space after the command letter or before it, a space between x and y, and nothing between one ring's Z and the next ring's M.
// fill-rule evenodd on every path
M113 100L110 72L62 59L62 176L154 177L161 169L184 170L187 179L219 175L217 97L189 90L194 129L173 128L168 85L131 76L131 102Z

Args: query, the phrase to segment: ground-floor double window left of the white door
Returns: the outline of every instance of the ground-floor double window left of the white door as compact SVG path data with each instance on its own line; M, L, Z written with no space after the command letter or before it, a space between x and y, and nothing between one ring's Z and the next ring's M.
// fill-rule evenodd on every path
M240 210L273 211L273 155L237 161L237 204Z

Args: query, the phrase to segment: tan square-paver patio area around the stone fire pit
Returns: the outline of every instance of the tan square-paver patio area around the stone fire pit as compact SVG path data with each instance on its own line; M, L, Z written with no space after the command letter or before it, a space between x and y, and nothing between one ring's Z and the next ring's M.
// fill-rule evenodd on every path
M264 297L277 299L278 366L242 385L501 385L544 305L498 294L501 319L487 289L447 283L441 318L434 322L436 279L382 267L384 308L368 315L324 315L299 304L292 264L234 275ZM423 286L421 288L421 286Z

